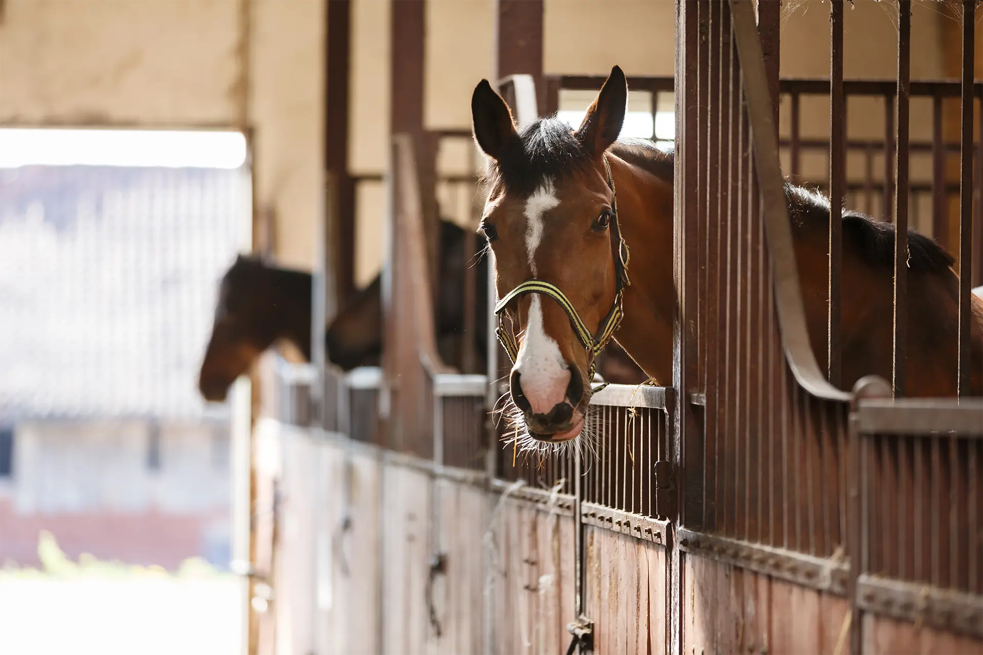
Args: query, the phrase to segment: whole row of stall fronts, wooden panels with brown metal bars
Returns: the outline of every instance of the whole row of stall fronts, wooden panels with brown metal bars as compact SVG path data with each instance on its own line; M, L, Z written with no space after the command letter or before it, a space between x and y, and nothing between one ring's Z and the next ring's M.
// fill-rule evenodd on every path
M974 3L964 3L963 81L923 87L908 80L909 0L900 0L894 89L842 81L842 2L830 6L833 115L849 93L891 98L883 143L851 144L836 125L828 143L794 131L781 142L780 94L792 98L794 124L796 98L817 89L779 81L777 3L679 0L678 83L629 79L675 89L675 366L670 388L612 385L594 397L595 429L607 444L596 458L502 448L507 430L482 419L500 391L487 384L496 364L486 378L440 365L414 145L395 136L390 243L400 246L387 274L383 371L367 384L372 376L325 369L324 388L335 391L317 398L334 413L321 412L318 428L284 441L282 476L296 491L288 489L283 511L300 527L280 548L308 544L308 565L295 575L306 579L286 575L277 593L293 601L287 623L305 611L298 608L317 608L295 652L556 653L578 644L598 653L875 653L943 644L983 652L983 403L893 400L891 385L876 379L851 393L830 383L838 381L840 335L825 335L826 360L817 361L780 163L784 149L796 172L804 148L829 147L827 292L837 326L845 293L839 200L875 202L873 177L847 184L845 153L887 153L890 174L877 201L894 208L900 235L893 339L902 388L904 228L918 191L909 184L909 148L898 144L909 140L912 93L935 98L957 88L960 184L933 175L923 191L959 193L950 243L958 246L967 344L970 262L980 250L970 229ZM536 99L527 82L511 78L502 88L520 117L539 113L522 106ZM558 89L591 83L550 80L548 106ZM946 147L930 145L933 156ZM960 348L953 371L960 396L967 353ZM380 427L368 439L375 443L336 434L355 425L356 393L379 399ZM308 505L314 493L319 509Z

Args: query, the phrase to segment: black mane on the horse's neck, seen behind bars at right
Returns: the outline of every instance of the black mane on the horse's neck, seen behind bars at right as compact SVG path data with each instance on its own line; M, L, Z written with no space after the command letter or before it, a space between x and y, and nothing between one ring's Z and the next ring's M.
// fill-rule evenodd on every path
M829 225L830 199L815 191L785 183L788 214L799 224L805 219L822 220ZM867 260L884 266L895 265L895 226L880 223L858 211L843 211L843 240L860 249ZM953 255L934 241L908 230L908 268L938 273L954 264Z

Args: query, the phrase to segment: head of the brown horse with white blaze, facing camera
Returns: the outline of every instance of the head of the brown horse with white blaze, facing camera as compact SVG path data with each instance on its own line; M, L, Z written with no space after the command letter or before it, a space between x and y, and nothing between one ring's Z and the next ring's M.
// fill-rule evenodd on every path
M491 244L499 335L513 359L513 413L539 442L580 435L595 359L620 318L627 251L605 153L626 105L618 67L575 131L547 118L518 132L488 81L472 96L488 165L480 231Z

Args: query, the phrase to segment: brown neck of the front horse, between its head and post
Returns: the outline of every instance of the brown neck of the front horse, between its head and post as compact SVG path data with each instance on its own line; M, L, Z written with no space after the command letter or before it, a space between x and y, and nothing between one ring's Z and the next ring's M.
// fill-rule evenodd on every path
M675 294L672 284L672 180L609 158L617 220L630 248L624 317L614 337L659 384L670 384Z

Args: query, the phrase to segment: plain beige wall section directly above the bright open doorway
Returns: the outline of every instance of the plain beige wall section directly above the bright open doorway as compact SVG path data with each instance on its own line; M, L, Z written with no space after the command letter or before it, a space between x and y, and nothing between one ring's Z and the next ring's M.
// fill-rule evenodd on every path
M238 0L7 0L0 122L231 125Z

